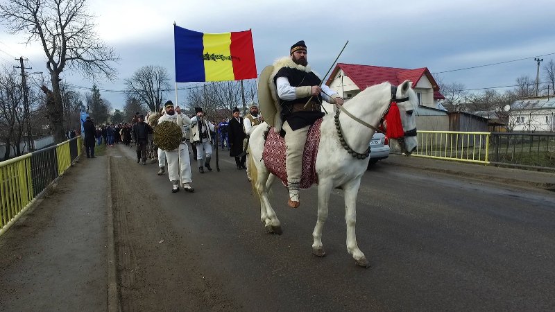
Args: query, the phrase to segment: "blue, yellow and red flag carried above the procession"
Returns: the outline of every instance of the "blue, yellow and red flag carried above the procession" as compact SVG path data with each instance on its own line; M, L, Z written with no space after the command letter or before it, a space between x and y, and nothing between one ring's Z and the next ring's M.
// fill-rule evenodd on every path
M177 83L257 78L250 30L199 33L174 25L173 37Z

